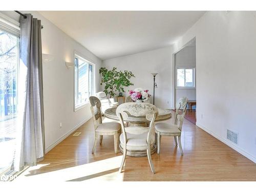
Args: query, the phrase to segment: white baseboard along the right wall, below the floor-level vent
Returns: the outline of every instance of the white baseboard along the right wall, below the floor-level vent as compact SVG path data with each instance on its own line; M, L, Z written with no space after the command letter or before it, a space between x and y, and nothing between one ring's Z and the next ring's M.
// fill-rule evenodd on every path
M208 134L214 136L216 139L220 140L221 142L225 143L226 145L228 145L229 147L231 147L233 150L236 150L238 153L242 154L243 156L245 156L246 158L250 159L251 161L253 161L254 163L256 163L256 157L253 157L252 155L248 154L247 152L245 152L242 148L240 148L237 145L234 145L233 143L231 143L230 141L223 139L222 137L216 135L215 133L211 132L210 130L208 130L206 127L204 127L202 124L196 123L196 125L204 130L205 132L207 132Z

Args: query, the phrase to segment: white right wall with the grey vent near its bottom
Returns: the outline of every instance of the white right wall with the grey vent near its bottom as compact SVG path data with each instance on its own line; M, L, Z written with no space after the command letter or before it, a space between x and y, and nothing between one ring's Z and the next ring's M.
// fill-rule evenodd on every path
M196 37L197 124L256 162L256 12L207 12L177 42ZM238 145L226 130L239 132Z

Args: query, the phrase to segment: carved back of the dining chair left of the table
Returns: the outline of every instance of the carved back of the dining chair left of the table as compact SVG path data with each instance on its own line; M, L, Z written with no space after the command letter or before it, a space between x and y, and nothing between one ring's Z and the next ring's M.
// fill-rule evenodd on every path
M93 122L94 122L94 129L96 130L98 127L98 122L97 120L99 120L99 123L102 123L102 118L101 118L101 111L100 111L100 100L95 97L95 96L91 96L89 97L90 103L91 103L91 112L92 112L92 116L93 116ZM96 106L97 108L97 113L94 112L94 107Z

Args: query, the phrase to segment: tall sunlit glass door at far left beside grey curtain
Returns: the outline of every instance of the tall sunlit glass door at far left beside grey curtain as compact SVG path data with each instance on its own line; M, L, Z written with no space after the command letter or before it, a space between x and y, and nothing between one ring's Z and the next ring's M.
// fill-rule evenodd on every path
M0 174L14 158L17 123L19 37L0 24Z

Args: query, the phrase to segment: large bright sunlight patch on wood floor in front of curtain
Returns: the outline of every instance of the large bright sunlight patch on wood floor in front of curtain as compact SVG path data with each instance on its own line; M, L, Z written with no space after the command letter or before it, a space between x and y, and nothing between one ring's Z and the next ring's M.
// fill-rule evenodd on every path
M31 181L86 181L90 179L99 180L119 180L122 181L123 174L118 173L122 156L104 159L92 163L78 165L74 167L55 170L53 172L42 173L38 175L26 176L31 170L40 168L43 165L28 168L23 174L13 182L31 182Z

